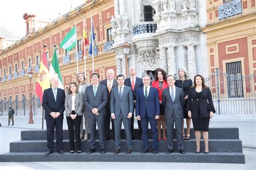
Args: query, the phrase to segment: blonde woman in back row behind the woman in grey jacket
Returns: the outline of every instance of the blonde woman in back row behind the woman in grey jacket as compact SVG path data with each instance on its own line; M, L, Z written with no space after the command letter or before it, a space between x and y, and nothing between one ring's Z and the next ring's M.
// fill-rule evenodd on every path
M86 87L90 86L90 84L88 82L86 82L86 78L83 73L77 74L77 86L78 86L78 92L84 96ZM80 125L80 138L82 140L86 141L88 138L88 133L90 133L90 126L89 126L89 117L86 115L86 111L85 111L85 105L83 107L82 113L83 113L83 115L82 115L82 120L81 120L81 125ZM83 116L84 116L84 118L83 118ZM84 125L85 125L85 133L84 133L84 138L83 138Z

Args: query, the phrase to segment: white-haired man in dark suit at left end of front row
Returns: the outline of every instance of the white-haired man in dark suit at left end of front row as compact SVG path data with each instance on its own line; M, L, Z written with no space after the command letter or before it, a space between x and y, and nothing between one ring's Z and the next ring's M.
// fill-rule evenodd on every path
M58 74L51 78L51 88L44 90L42 105L45 110L47 146L46 155L53 153L54 150L54 129L56 129L57 151L63 154L63 112L65 110L65 91L58 88Z

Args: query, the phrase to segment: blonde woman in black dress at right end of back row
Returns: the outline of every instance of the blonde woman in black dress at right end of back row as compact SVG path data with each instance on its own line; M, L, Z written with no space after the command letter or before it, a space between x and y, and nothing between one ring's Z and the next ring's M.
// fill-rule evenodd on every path
M185 131L184 131L184 121L183 121L183 126L182 126L182 134L183 134L184 140L190 140L191 118L189 118L187 115L186 105L187 105L187 93L188 93L188 90L193 86L193 84L192 84L192 80L188 79L188 74L187 74L186 68L179 68L178 75L179 75L179 79L176 80L175 86L183 89L183 93L185 96L185 105L183 108L183 115L184 115L184 118L186 119L186 123L187 123L186 136L185 136Z

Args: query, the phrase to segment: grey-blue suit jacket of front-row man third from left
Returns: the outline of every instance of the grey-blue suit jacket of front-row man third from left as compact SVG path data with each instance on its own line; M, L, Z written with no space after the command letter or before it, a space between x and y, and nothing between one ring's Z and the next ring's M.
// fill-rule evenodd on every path
M107 104L107 89L102 84L98 84L96 96L93 94L93 86L86 87L84 93L84 104L86 105L86 114L93 116L91 110L97 108L99 110L99 116L106 115Z

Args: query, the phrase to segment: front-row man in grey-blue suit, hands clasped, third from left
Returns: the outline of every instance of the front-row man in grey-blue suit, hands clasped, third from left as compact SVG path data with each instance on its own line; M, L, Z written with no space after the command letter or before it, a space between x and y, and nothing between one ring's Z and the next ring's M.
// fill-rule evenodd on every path
M86 105L86 114L90 122L90 150L87 153L96 152L96 122L99 130L100 153L105 152L105 134L104 120L106 116L107 89L99 84L99 74L92 73L92 85L86 87L84 93L84 104Z

